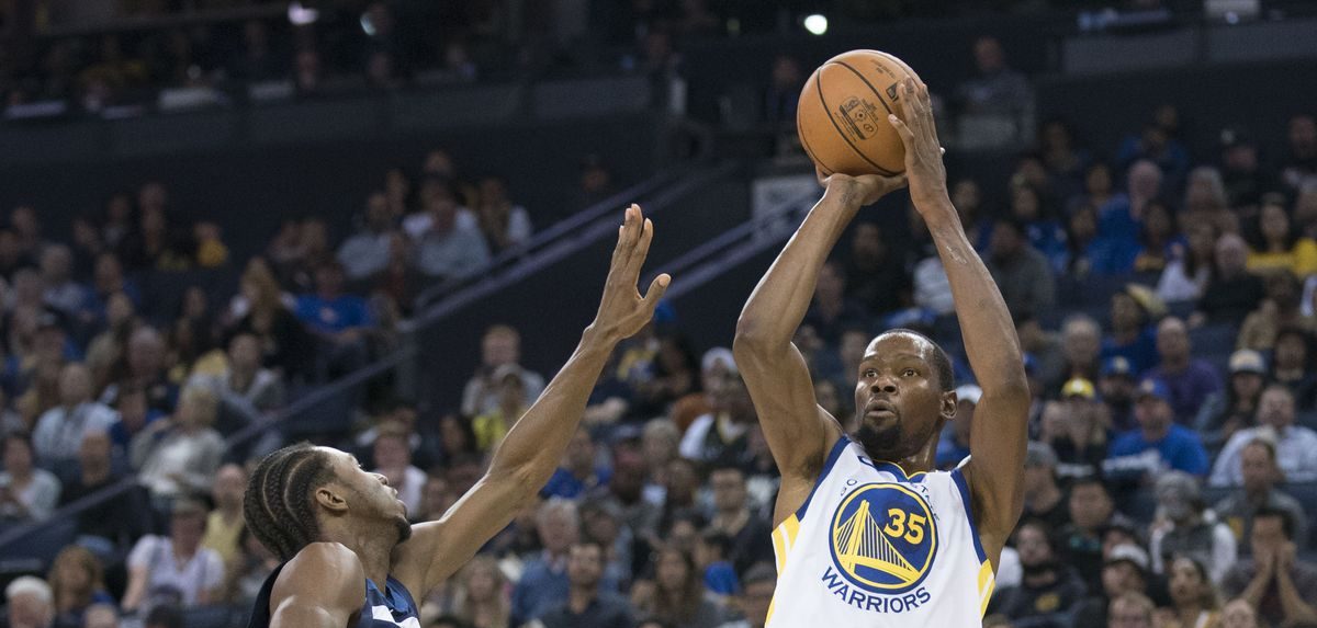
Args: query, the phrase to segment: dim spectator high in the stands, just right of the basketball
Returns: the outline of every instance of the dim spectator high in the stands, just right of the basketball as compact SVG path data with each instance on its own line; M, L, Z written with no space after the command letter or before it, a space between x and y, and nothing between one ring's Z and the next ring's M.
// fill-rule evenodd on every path
M1034 91L1025 75L1006 66L1001 42L993 37L975 41L979 75L956 88L961 110L975 116L994 116L1013 126L1019 143L1034 139Z

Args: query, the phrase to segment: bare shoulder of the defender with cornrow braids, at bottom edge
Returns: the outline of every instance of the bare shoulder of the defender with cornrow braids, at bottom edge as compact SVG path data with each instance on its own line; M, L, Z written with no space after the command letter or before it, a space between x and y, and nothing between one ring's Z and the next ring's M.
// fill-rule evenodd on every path
M270 628L345 628L366 603L366 570L338 543L298 552L270 591Z

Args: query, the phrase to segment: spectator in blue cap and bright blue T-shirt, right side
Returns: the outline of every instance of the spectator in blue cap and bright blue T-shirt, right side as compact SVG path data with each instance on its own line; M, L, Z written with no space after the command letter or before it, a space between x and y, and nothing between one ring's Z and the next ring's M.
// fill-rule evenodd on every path
M1175 424L1171 392L1159 380L1147 378L1135 393L1134 419L1139 427L1112 443L1104 470L1108 476L1143 477L1167 469L1193 476L1208 473L1208 452L1198 435Z

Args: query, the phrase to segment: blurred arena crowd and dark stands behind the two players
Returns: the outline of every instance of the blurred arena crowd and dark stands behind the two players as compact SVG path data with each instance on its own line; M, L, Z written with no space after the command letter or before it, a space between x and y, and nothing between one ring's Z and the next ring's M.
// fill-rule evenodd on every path
M1317 625L1314 34L1299 0L0 0L8 625L245 625L277 562L241 489L281 444L440 516L576 346L630 202L673 288L424 625L763 625L777 473L724 348L819 196L799 89L852 49L930 85L1029 352L989 624ZM797 336L836 416L892 326L969 386L954 466L973 373L903 193ZM564 619L581 540L624 624Z

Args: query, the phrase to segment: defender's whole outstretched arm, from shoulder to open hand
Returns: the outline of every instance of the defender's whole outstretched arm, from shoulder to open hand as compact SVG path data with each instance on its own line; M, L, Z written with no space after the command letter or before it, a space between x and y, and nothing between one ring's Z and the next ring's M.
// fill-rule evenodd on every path
M644 297L636 292L652 238L653 225L632 205L618 234L599 313L576 352L507 432L485 477L443 519L414 526L411 540L394 550L392 573L414 595L424 596L465 565L553 474L608 353L649 322L668 289L670 277L660 275Z

